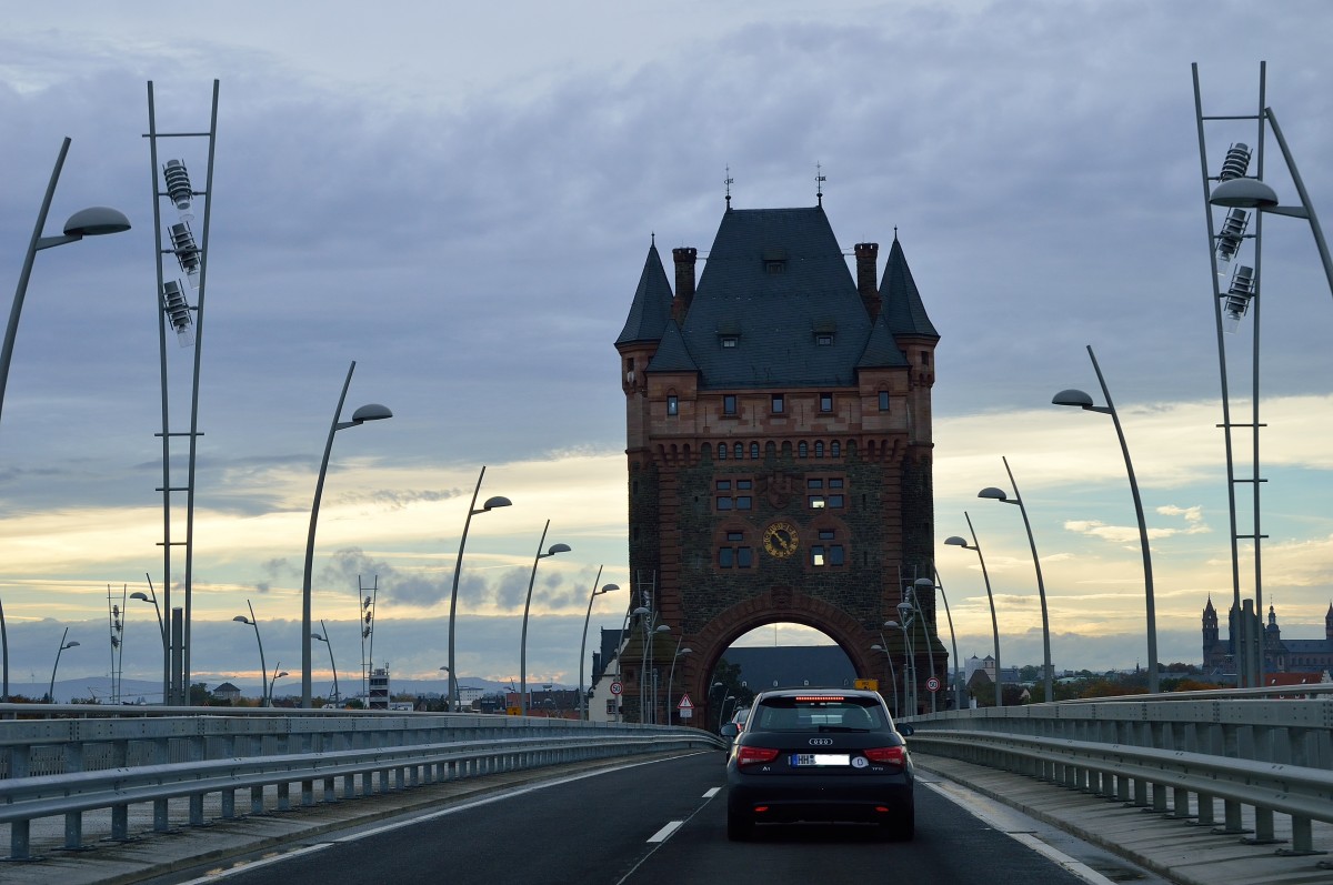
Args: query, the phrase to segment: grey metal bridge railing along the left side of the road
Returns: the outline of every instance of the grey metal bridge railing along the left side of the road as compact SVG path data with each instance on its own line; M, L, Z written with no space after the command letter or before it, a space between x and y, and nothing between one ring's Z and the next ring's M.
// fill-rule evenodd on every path
M31 822L44 817L64 816L64 848L77 849L83 814L99 809L111 810L111 838L125 840L135 804L151 802L153 830L168 832L172 798L187 797L189 824L203 825L211 793L229 818L236 790L244 789L251 812L261 813L267 786L276 786L284 810L292 784L301 805L315 805L317 793L332 802L500 772L722 746L693 728L464 713L0 705L0 824L9 825L12 860L29 857Z

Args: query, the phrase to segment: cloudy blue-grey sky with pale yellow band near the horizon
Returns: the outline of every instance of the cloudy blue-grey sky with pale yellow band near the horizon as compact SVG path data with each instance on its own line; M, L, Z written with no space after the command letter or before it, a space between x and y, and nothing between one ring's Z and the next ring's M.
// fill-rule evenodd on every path
M315 481L349 365L319 517L313 617L344 680L365 656L403 678L577 684L592 588L631 585L624 404L613 341L657 239L706 249L725 207L808 207L822 175L840 243L897 236L936 352L937 570L961 658L1041 661L1032 522L1057 669L1146 662L1144 568L1114 427L1050 405L1102 401L1130 449L1152 540L1158 657L1200 662L1209 597L1233 594L1218 335L1190 65L1205 115L1266 104L1316 212L1333 212L1333 7L1320 0L616 4L515 0L0 5L0 281L17 281L61 139L45 233L87 205L127 233L36 256L0 416L0 601L11 681L112 664L108 596L161 593L161 392L148 91L159 132L219 120L200 351L196 681L300 665ZM1253 120L1205 125L1216 173ZM1265 179L1296 188L1272 137ZM160 140L201 187L200 139ZM169 219L165 215L164 219ZM197 228L197 223L196 223ZM1238 484L1262 601L1321 638L1333 600L1333 300L1302 220L1264 224L1261 484ZM849 259L850 260L850 259ZM881 268L882 269L882 268ZM1264 296L1273 297L1265 299ZM1233 424L1253 423L1256 316L1226 336ZM173 431L195 352L171 345ZM1233 431L1249 476L1249 431ZM183 462L176 456L177 464ZM183 533L177 498L173 534ZM968 536L970 537L970 536ZM1253 541L1241 542L1254 596ZM173 573L180 578L183 558ZM600 572L600 576L599 576ZM173 605L180 604L173 596ZM619 628L625 589L595 600ZM121 668L161 673L151 605L129 601ZM941 620L941 630L948 624ZM944 637L949 642L949 637ZM748 642L828 641L786 626ZM595 640L589 640L589 649ZM316 693L329 649L315 648ZM295 665L295 666L293 666Z

